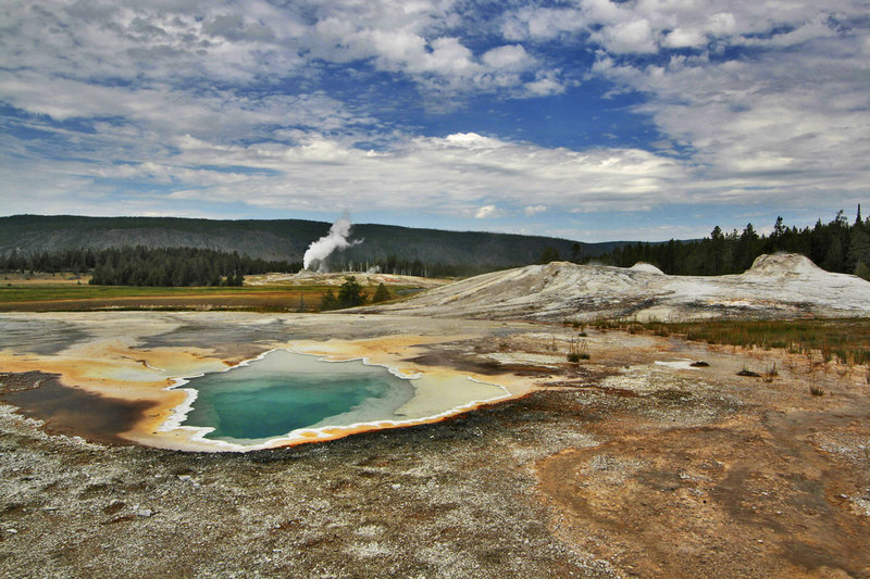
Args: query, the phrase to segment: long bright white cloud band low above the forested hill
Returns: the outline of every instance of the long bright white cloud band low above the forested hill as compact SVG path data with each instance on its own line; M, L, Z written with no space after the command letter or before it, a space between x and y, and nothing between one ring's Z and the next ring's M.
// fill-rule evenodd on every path
M102 147L113 147L105 137ZM685 167L633 149L577 153L478 135L406 137L370 154L351 142L299 135L298 144L217 144L196 137L154 149L147 163L115 165L54 162L52 178L35 180L48 162L24 163L3 177L24 185L33 199L61 210L64 198L95 199L115 191L108 180L132 179L151 199L149 211L178 200L247 204L277 211L330 212L350 205L365 211L495 218L542 207L593 211L635 206L642 200L684 199ZM0 153L21 144L11 139ZM95 153L99 155L100 153ZM582 185L579 185L582 184ZM122 196L123 198L123 196ZM535 203L530 205L529 200ZM531 209L526 209L531 207Z

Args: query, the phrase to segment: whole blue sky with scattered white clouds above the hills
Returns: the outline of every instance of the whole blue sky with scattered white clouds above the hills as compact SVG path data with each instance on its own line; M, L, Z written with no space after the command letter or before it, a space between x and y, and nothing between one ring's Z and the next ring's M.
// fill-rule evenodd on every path
M870 213L867 0L0 11L0 214L585 241Z

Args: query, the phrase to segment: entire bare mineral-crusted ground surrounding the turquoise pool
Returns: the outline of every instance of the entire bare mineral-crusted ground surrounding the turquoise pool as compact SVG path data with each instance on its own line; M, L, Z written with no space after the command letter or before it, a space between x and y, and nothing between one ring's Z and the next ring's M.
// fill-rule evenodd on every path
M575 366L570 326L424 315L0 327L3 577L870 577L862 366L591 329ZM287 345L517 398L293 448L142 445L186 444L154 435L169 376Z

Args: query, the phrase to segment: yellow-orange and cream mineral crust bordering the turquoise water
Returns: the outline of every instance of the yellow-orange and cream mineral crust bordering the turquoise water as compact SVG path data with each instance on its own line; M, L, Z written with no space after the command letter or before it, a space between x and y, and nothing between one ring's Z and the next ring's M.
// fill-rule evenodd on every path
M535 388L531 379L511 374L483 376L459 372L448 365L420 366L408 362L421 355L428 344L468 338L462 335L402 335L363 340L276 343L272 347L320 356L330 362L363 360L366 364L387 367L396 376L411 379L414 393L397 411L402 417L400 420L328 425L298 430L291 437L275 437L257 444L233 444L203 439L201 432L198 433L201 429L183 426L184 414L189 410L188 394L184 389L174 387L184 378L226 370L227 365L235 366L237 361L225 360L202 347L142 348L140 339L144 336L158 330L165 331L166 327L158 325L147 328L128 323L128 319L124 320L127 328L138 327L139 330L121 332L116 323L109 324L100 327L96 338L78 341L58 353L22 355L10 349L2 350L0 367L8 373L39 370L54 374L65 387L110 399L148 402L152 406L133 428L115 435L149 446L186 451L247 451L436 423L482 405L525 395Z

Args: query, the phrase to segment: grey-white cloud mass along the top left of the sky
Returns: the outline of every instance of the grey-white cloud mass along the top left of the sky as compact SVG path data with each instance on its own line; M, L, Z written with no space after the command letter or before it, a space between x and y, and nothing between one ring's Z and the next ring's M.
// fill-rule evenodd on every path
M12 81L61 98L52 84L188 95L191 88L241 88L264 79L285 79L291 86L316 78L323 62L360 62L407 75L424 92L438 96L428 102L440 100L442 105L445 95L522 93L527 78L520 73L533 67L540 72L536 59L518 43L475 53L448 32L461 30L453 4L303 1L277 8L264 0L94 0L51 12L13 1L0 22L0 49ZM14 104L29 111L27 102ZM79 111L87 115L99 103L99 96L91 105L67 99L54 108L44 104L41 112L59 118L78 116Z

